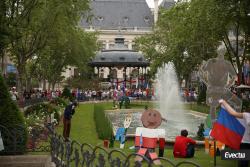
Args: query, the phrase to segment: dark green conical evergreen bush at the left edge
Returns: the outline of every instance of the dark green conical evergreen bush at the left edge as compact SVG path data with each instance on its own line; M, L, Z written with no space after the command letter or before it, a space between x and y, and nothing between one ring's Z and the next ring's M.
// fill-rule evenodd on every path
M4 152L6 154L24 153L28 136L24 116L17 104L11 99L8 87L1 74L0 92L0 130L5 146ZM16 136L13 136L10 133L11 131L15 131ZM0 154L2 153L0 152Z

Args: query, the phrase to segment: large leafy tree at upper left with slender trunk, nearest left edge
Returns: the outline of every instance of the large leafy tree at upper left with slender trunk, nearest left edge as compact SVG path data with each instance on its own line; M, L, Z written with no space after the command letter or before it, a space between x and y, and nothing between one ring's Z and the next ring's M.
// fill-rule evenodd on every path
M17 67L18 92L21 93L26 63L41 56L38 53L46 47L55 28L76 27L81 14L88 9L88 1L9 0L4 5L10 31L7 50Z

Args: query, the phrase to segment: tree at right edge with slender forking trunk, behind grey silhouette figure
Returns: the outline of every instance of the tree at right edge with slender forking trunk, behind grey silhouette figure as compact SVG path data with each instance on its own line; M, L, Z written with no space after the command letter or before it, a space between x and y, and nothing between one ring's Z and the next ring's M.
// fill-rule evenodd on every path
M242 69L245 60L250 60L250 1L215 1L214 11L224 20L221 27L222 41L227 49L227 58L238 73L238 82L242 83ZM211 16L213 13L211 13ZM214 28L219 28L214 25Z

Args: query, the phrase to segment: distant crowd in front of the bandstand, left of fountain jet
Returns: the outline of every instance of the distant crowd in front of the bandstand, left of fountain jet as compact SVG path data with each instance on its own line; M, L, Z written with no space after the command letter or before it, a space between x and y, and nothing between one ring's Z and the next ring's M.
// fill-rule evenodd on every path
M77 101L95 101L95 100L119 100L122 96L128 96L130 99L151 99L154 95L152 89L105 89L105 90L79 90L72 89L72 96ZM18 92L16 88L10 89L10 95L12 100L18 100ZM23 92L23 100L32 100L32 99L53 99L62 96L62 91L57 90L40 90L32 89L30 91Z

